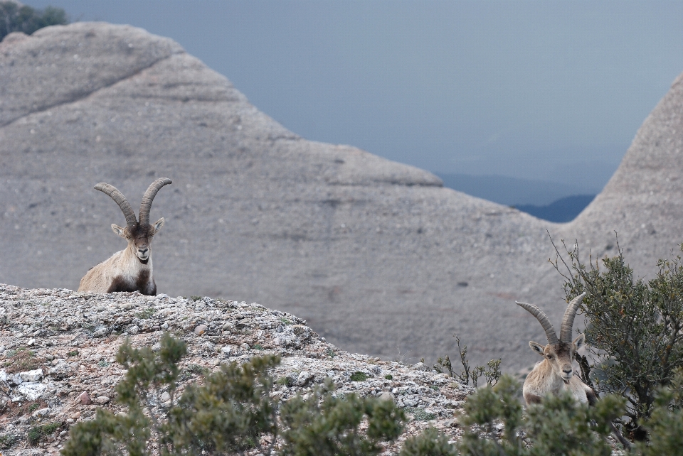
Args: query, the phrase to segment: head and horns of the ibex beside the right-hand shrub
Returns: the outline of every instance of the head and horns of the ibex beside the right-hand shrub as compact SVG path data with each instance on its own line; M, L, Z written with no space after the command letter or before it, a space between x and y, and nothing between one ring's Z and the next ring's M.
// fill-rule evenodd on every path
M583 334L576 337L576 339L571 340L574 317L576 316L578 306L581 305L581 300L583 300L585 295L586 292L583 292L576 296L576 298L573 298L567 306L567 310L562 319L559 339L557 338L553 325L541 309L533 304L518 303L515 301L517 305L528 310L531 315L534 315L534 317L539 320L546 332L546 337L548 337L547 345L541 345L532 340L529 342L529 347L531 347L534 352L537 352L544 357L545 361L552 367L554 374L561 378L565 383L568 383L573 375L571 361L574 357L574 353L576 353L576 350L583 347L583 342L586 340L586 336Z

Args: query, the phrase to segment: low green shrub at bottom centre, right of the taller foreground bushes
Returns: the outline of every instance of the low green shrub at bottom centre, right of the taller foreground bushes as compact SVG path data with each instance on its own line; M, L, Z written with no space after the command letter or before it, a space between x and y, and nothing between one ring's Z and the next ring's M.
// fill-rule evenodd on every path
M332 388L328 381L326 388ZM285 431L283 456L371 456L382 451L380 442L401 435L406 416L393 401L359 398L347 394L335 398L317 386L307 399L296 396L280 411ZM367 420L367 432L359 432Z

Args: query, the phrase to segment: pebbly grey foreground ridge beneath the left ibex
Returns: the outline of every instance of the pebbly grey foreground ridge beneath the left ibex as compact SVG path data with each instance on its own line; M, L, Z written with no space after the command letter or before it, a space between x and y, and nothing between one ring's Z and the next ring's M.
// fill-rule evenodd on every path
M129 337L135 347L154 349L164 331L188 344L181 389L200 379L202 369L270 353L282 358L272 373L280 381L271 394L280 401L310 391L326 377L337 385L335 394L396 401L411 420L398 442L386 443L387 456L427 425L457 438L455 412L473 392L421 363L409 367L344 352L295 315L255 303L0 284L0 323L4 455L56 454L70 425L92 418L97 407L122 411L115 400L115 386L125 374L114 359L118 347ZM162 393L154 406L166 401Z

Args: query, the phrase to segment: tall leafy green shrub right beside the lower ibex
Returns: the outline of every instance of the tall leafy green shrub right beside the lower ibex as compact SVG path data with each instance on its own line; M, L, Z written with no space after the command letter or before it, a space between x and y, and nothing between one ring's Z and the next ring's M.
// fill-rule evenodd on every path
M601 261L603 270L597 260L581 263L578 245L571 251L565 246L570 264L558 252L554 266L567 269L561 273L568 297L587 293L581 311L595 361L577 356L583 381L599 394L626 398L625 418L617 422L643 440L642 423L652 413L655 391L683 367L683 265L679 256L660 260L657 276L646 283L633 277L617 246L617 256Z

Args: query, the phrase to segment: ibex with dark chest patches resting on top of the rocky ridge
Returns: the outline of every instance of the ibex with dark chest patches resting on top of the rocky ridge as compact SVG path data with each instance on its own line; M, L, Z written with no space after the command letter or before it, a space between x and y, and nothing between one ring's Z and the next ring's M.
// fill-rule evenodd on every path
M113 293L115 291L139 291L143 295L156 295L157 284L152 277L152 237L164 226L164 217L149 224L149 210L157 192L164 185L171 183L169 178L155 180L144 192L140 204L139 222L126 197L113 185L99 183L95 190L105 192L112 197L126 217L125 228L112 224L112 230L120 237L125 237L128 246L90 268L80 279L78 291L95 293Z

